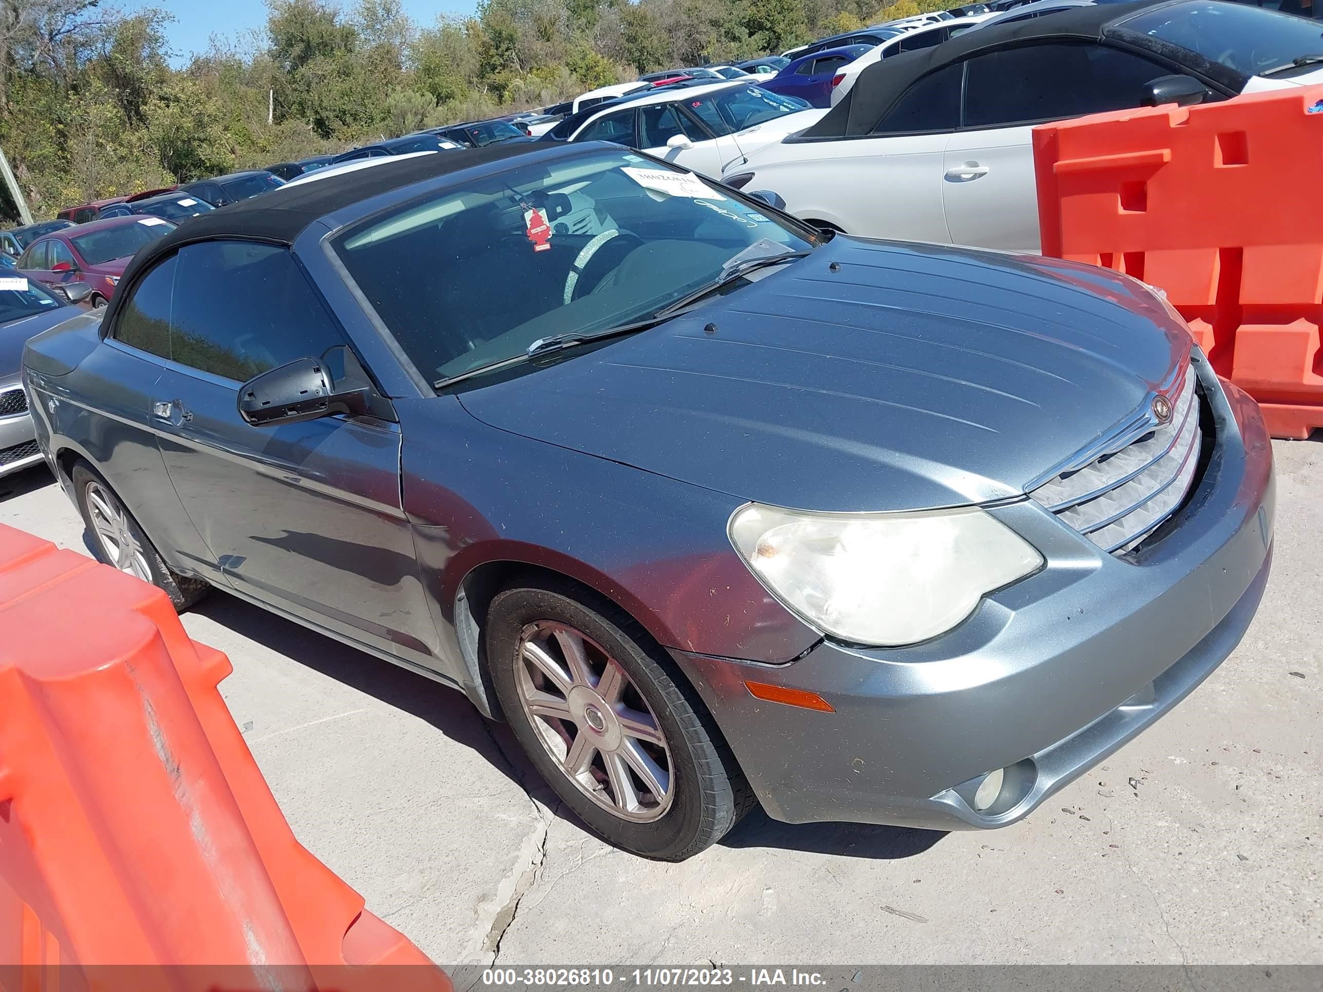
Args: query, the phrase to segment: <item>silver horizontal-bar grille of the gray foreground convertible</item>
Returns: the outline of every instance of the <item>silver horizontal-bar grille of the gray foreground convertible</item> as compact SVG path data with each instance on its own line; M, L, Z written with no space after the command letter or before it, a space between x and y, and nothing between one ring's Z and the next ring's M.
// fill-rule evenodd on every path
M1176 511L1199 468L1199 390L1192 365L1170 398L1171 421L1029 495L1105 552L1129 552Z

